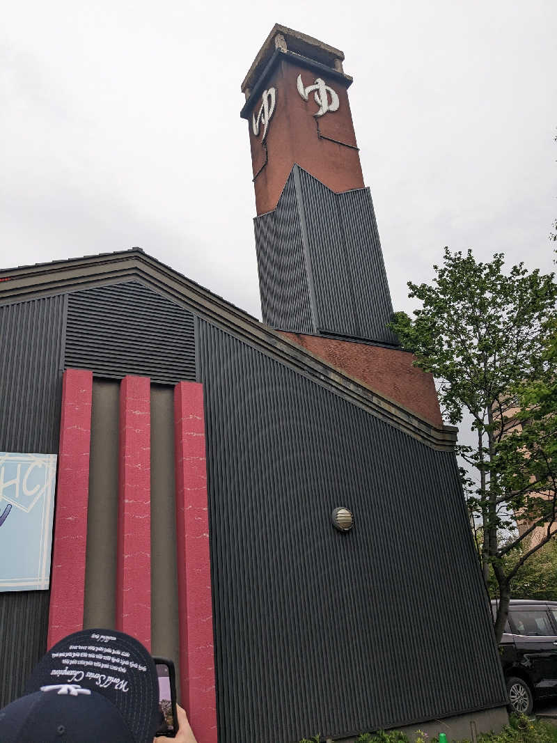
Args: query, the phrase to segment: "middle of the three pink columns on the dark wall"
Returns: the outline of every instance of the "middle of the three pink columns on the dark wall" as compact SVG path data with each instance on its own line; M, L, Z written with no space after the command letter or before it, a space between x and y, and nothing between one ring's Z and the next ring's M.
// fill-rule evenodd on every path
M151 649L151 380L120 384L116 629Z

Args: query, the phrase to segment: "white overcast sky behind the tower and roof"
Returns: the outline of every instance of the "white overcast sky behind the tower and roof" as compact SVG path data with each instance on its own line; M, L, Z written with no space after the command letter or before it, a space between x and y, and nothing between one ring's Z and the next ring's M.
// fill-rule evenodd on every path
M345 51L395 308L445 244L552 268L555 0L6 3L0 265L139 245L259 316L238 112L274 22Z

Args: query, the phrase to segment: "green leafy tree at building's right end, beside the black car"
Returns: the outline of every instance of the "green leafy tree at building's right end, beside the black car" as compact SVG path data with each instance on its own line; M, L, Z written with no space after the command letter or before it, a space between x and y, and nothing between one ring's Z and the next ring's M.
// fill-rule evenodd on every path
M486 585L493 572L501 598L495 635L503 634L511 583L547 543L557 519L556 299L553 273L523 264L504 272L504 256L478 262L445 249L431 285L408 282L421 302L414 318L391 324L415 365L437 380L443 415L472 417L475 446L457 447ZM516 519L524 528L516 529ZM524 545L537 528L544 535Z

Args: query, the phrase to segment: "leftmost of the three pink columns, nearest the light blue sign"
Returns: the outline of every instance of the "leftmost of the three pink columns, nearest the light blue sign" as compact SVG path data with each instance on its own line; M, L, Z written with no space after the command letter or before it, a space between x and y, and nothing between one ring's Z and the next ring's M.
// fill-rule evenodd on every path
M67 369L56 487L48 647L83 627L93 372Z

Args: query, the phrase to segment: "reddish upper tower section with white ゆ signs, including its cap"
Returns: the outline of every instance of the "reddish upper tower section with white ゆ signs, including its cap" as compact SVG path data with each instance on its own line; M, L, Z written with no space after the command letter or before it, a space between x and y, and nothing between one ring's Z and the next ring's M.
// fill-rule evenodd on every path
M334 192L363 188L344 58L339 49L278 24L255 57L241 85L246 105L240 115L251 124L258 215L276 207L294 163Z

